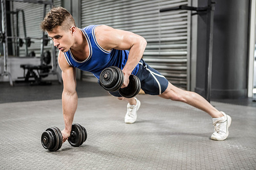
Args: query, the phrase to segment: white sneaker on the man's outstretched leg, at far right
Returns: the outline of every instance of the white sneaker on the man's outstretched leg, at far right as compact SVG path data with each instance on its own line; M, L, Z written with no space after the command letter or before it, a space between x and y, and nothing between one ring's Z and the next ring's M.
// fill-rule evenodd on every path
M228 127L231 124L231 117L224 112L221 112L224 116L220 118L212 118L214 125L214 133L211 135L212 140L225 140L228 136Z

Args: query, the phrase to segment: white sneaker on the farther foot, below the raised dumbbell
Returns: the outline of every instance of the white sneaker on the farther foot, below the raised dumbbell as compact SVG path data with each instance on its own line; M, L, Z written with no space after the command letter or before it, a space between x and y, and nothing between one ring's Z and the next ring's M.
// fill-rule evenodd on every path
M137 119L137 111L140 108L140 101L137 98L135 98L135 100L136 105L127 104L127 112L124 117L124 123L126 124L133 124Z

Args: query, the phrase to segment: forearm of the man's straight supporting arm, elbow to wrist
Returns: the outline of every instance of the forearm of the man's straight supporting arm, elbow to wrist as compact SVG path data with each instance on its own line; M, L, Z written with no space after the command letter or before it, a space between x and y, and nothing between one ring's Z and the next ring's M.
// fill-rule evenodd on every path
M65 130L71 132L74 115L77 109L77 93L62 92L62 110Z

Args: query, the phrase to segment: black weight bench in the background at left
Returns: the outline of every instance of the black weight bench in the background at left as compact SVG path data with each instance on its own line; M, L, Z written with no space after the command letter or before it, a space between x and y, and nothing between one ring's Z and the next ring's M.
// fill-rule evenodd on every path
M21 64L20 68L23 68L23 77L18 77L18 79L24 79L23 82L30 82L31 85L49 85L51 82L42 81L42 78L49 75L51 65L32 65L32 64ZM30 78L33 78L30 80ZM20 81L16 81L20 82Z

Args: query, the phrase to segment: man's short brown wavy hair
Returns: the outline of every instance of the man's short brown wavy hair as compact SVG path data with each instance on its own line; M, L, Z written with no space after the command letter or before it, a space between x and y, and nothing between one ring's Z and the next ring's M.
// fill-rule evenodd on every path
M75 26L75 20L68 10L62 7L52 8L45 19L41 22L40 28L42 31L52 31L54 28L61 26L63 30L68 30Z

